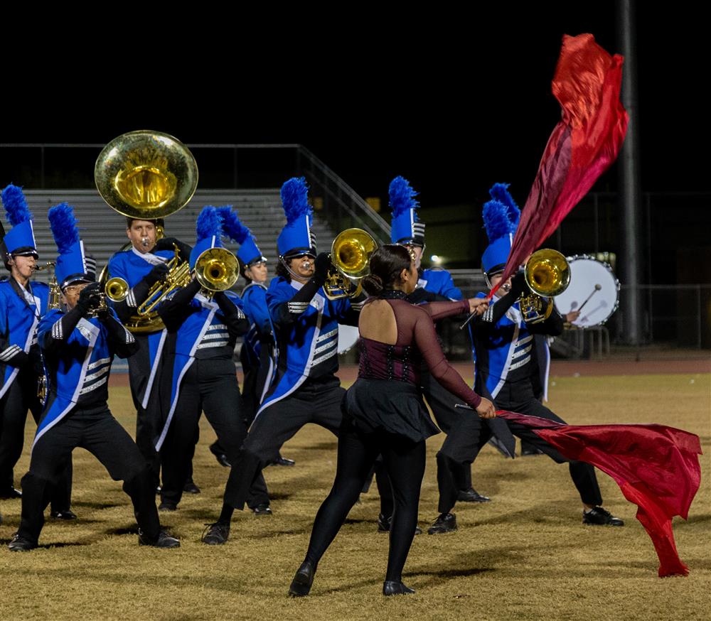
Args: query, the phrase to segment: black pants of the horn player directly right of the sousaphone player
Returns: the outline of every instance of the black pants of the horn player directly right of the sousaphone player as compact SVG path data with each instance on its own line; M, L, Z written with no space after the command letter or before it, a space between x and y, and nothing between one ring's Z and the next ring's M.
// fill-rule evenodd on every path
M178 404L161 455L163 490L161 500L178 504L190 470L201 412L215 430L220 446L234 464L247 436L247 426L240 414L240 389L235 363L228 358L196 359L183 377ZM269 504L267 485L261 473L250 481L247 504Z

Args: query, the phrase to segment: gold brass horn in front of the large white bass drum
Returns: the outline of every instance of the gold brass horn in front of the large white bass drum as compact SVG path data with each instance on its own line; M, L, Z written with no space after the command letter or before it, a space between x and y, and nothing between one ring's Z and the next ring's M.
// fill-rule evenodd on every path
M524 267L526 284L531 290L521 296L518 304L526 323L539 323L550 317L552 298L559 296L570 284L570 264L560 252L543 248L534 252ZM547 306L543 310L543 298Z

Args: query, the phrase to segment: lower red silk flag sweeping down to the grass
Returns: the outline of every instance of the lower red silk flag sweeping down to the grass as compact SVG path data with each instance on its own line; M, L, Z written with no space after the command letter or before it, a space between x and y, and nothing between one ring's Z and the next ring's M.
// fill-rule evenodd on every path
M699 437L665 425L564 425L513 412L498 416L528 427L563 457L594 465L610 475L637 505L637 519L659 557L659 576L686 576L671 520L688 519L701 482Z

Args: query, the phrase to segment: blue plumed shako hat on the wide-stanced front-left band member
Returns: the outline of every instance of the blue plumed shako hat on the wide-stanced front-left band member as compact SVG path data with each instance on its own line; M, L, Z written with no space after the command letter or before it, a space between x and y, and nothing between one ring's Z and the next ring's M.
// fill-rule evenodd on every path
M47 217L59 253L54 273L60 288L79 281L94 282L96 261L86 254L84 242L79 239L73 207L60 202L49 210Z

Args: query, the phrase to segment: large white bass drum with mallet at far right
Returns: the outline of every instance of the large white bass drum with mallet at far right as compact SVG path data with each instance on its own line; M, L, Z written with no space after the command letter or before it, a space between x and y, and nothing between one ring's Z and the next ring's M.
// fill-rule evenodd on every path
M555 296L556 310L565 316L582 307L579 317L571 322L576 328L604 324L619 305L620 284L612 268L587 255L568 257L568 262L570 286Z

